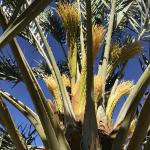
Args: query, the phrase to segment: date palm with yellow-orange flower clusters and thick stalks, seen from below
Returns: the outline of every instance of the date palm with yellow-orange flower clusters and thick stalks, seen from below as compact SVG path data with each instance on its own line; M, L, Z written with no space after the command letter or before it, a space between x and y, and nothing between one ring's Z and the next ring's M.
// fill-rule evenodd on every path
M0 47L9 44L14 56L1 53L0 79L15 85L23 81L36 108L34 112L21 100L0 91L0 123L17 150L150 148L150 65L145 55L143 63L147 66L137 83L124 80L128 61L142 57L149 38L148 1L2 0L0 8L4 31ZM61 63L53 55L49 33L62 48L65 61ZM43 57L39 66L30 67L17 35ZM141 58L139 62L142 64ZM45 82L53 101L46 99L38 79ZM115 108L124 96L114 121ZM31 122L44 147L28 145L4 100Z

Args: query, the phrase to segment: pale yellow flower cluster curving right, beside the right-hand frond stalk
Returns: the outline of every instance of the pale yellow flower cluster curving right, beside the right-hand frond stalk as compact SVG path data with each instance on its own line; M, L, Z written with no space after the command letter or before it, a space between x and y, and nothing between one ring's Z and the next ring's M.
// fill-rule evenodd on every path
M106 107L106 116L109 121L112 119L114 109L115 109L117 103L119 102L120 98L123 95L129 94L132 87L133 87L133 82L123 81L118 85L115 93L111 95L111 97L108 100L107 107Z

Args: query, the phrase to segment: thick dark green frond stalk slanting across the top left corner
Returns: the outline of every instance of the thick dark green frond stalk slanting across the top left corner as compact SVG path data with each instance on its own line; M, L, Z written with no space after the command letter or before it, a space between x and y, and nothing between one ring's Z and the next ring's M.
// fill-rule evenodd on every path
M38 3L35 3L35 1L33 1L32 3L27 1L25 3L25 7L23 9L23 12L18 17L16 17L13 22L9 22L9 18L7 18L7 14L12 16L13 13L10 11L10 9L5 11L4 8L7 8L7 7L6 6L2 7L3 6L2 5L1 6L1 13L3 13L3 15L5 16L5 19L7 19L7 22L9 22L9 27L7 28L7 31L8 30L11 30L11 31L9 31L9 33L7 31L5 31L3 36L1 36L1 46L5 45L6 41L10 41L10 39L11 39L10 35L11 35L11 37L16 36L17 34L19 34L24 29L24 27L26 27L26 25L30 24L31 25L31 29L34 28L34 25L32 25L32 20L40 12L42 12L44 10L44 8L50 2L51 1L49 1L49 0L45 1L44 3L42 3L41 1L38 1ZM42 5L41 5L41 3L42 3ZM14 10L14 8L12 8L12 9ZM32 14L29 15L28 14L29 11L32 12ZM20 22L20 23L18 23L18 22ZM35 30L33 32L35 32ZM9 37L8 37L8 35L9 35Z

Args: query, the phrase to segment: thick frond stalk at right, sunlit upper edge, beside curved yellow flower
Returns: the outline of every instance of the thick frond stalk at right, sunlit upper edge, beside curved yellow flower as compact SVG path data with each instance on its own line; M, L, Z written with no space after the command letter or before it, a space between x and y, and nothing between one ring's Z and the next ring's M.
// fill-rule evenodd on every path
M119 115L116 120L116 125L121 124L121 127L118 131L117 137L113 143L113 150L120 149L127 138L127 131L129 125L134 117L135 111L138 107L138 104L147 89L148 83L150 82L150 65L144 71L139 81L135 87L130 92L126 102L121 108Z

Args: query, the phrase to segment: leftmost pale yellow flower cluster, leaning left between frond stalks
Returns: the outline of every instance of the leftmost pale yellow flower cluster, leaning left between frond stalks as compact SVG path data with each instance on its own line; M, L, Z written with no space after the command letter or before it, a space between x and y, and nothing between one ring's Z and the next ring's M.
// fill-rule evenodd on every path
M48 87L49 91L52 93L55 101L55 105L57 107L57 111L63 113L63 104L61 101L60 91L56 81L54 80L53 76L47 76L44 78L46 86Z

